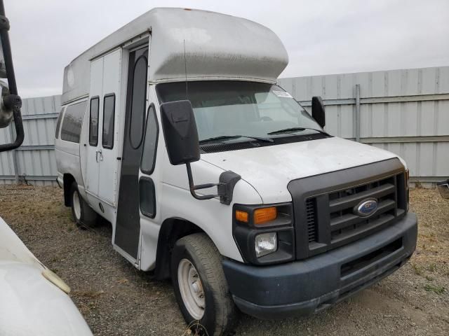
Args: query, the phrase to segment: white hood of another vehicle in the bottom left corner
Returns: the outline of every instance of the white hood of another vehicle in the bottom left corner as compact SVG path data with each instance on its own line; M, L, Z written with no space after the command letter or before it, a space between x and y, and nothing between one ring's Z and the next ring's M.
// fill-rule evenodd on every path
M0 335L92 336L70 297L43 277L44 269L0 218Z

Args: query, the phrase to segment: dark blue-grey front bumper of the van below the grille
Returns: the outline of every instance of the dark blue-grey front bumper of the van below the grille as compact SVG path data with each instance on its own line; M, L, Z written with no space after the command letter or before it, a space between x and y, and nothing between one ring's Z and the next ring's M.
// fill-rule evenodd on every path
M234 302L246 314L270 319L308 315L396 271L413 254L416 241L417 218L409 213L389 228L306 260L262 267L224 260L223 269ZM387 246L395 246L394 251ZM342 271L354 260L361 260L360 267Z

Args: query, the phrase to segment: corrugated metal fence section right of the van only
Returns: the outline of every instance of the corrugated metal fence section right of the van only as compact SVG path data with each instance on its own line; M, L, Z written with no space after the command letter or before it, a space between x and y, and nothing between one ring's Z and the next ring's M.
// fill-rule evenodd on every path
M326 105L326 130L400 155L412 181L449 176L449 66L281 78L306 107Z

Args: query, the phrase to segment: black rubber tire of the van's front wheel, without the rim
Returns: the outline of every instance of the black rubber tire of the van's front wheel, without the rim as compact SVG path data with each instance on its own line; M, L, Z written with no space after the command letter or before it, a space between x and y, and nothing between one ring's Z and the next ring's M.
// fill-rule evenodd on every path
M202 283L205 307L203 317L199 320L189 313L182 299L178 267L180 262L185 259L194 265ZM197 323L207 330L207 334L202 332L200 335L221 336L232 331L238 318L238 312L232 301L223 272L222 255L207 235L195 233L176 241L171 258L171 275L177 304L179 304L187 324L194 324L192 331L196 331Z

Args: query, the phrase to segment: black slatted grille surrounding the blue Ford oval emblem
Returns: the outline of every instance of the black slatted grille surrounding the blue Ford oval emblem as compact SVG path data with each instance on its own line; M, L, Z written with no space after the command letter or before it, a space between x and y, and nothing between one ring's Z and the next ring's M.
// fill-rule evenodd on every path
M394 223L406 211L403 179L403 174L396 174L306 198L308 255L342 246ZM377 200L377 210L370 216L359 216L354 207L367 199Z

